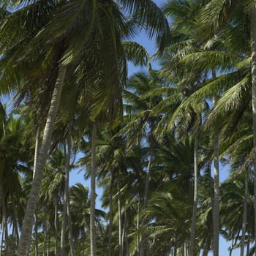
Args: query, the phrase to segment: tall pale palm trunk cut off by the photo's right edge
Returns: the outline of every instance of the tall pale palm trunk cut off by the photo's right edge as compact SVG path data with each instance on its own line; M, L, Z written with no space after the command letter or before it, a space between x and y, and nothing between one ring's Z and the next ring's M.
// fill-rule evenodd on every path
M252 120L254 146L254 195L255 195L255 246L256 246L256 3L252 4L251 12L251 50L252 50Z

